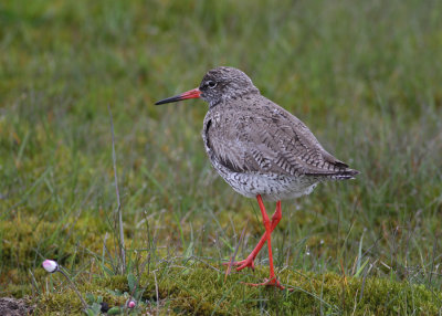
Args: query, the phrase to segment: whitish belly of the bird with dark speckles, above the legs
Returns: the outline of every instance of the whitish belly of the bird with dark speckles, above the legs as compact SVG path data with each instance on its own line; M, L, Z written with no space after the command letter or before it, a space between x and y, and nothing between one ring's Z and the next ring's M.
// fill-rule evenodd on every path
M213 164L218 173L240 194L264 200L280 201L296 199L312 193L319 179L307 176L285 176L263 172L232 172L223 166Z

